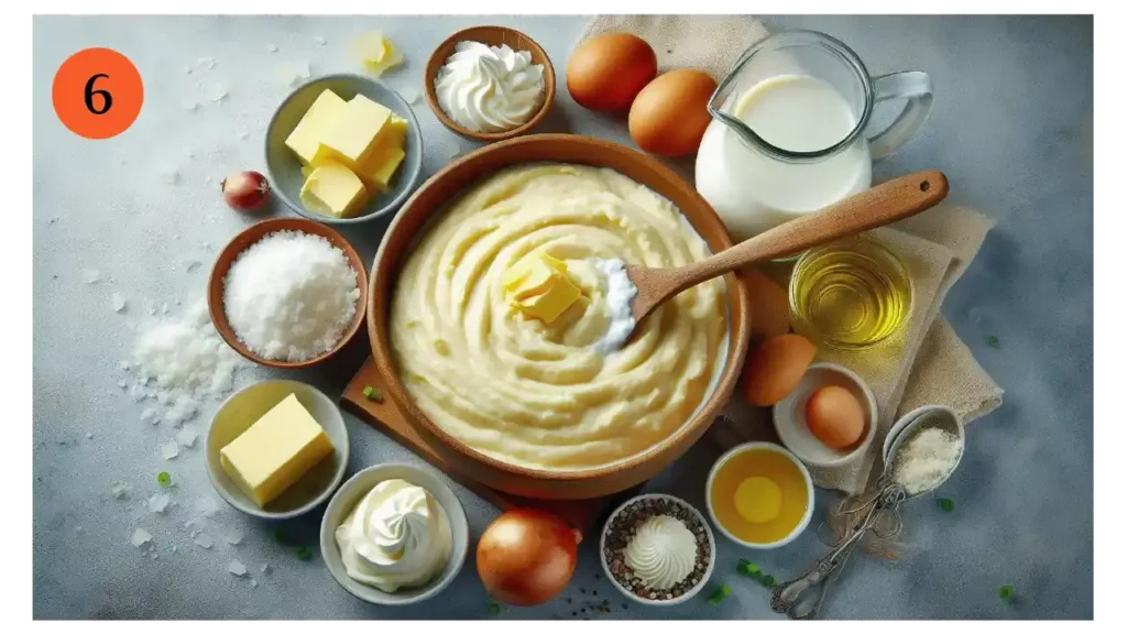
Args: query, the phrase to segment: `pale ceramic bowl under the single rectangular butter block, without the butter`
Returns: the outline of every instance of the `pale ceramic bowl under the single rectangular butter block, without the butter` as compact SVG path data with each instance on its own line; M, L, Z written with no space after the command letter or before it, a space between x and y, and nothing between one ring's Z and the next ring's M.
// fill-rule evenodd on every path
M291 394L298 396L298 400L328 434L334 452L266 508L259 508L223 470L219 452ZM272 520L298 517L325 502L340 486L348 466L348 429L337 404L316 387L290 380L257 382L232 394L215 412L207 428L206 466L215 492L236 509Z

